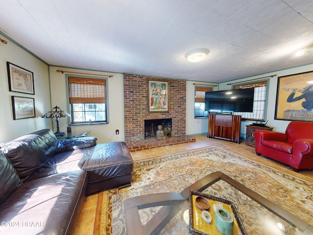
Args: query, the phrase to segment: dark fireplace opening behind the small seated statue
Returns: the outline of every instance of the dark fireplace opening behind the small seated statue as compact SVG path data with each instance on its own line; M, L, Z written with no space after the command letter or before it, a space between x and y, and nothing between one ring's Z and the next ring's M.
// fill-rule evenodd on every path
M155 138L157 126L162 125L165 136L172 136L172 118L145 120L145 139Z

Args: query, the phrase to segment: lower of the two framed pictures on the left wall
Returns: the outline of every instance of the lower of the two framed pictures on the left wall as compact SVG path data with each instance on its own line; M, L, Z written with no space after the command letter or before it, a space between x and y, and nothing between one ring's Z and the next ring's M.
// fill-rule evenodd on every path
M12 96L13 119L34 118L35 99Z

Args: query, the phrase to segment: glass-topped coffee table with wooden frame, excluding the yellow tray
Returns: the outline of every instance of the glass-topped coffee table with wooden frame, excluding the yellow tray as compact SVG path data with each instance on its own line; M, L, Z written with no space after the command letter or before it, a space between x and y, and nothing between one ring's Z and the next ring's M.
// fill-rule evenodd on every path
M242 234L313 234L313 226L309 223L224 173L214 172L180 193L152 193L126 199L124 212L128 235L172 234L173 231L176 234L192 234L183 219L183 212L189 209L190 191L205 192L215 185L214 196L235 204L246 229ZM146 218L147 214L149 218Z

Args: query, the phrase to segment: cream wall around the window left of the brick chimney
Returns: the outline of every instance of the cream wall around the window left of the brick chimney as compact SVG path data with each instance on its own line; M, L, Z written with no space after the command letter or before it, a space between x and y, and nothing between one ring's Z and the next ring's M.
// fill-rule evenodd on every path
M60 71L71 71L68 72L57 72ZM92 73L92 74L105 74L113 75L113 77L108 78L108 119L107 124L90 124L90 125L71 125L72 132L84 132L90 130L89 136L95 136L98 138L97 143L112 142L112 141L124 141L125 140L125 126L124 126L124 78L122 73L112 73L112 72L102 72L102 71L86 71L71 68L60 68L50 66L50 86L51 86L51 103L52 107L58 106L62 110L70 113L67 110L67 84L66 84L66 74L70 76L84 75L80 73ZM96 75L86 75L94 76ZM53 118L55 119L55 118ZM63 132L67 131L67 126L69 124L69 118L60 118L59 125L60 130ZM115 130L119 130L119 135L115 134ZM56 123L53 121L53 131L56 131Z

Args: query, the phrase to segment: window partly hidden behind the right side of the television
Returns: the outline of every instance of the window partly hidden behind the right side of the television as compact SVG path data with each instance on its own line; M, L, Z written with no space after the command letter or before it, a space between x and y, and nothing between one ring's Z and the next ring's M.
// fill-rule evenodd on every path
M233 89L245 89L245 88L252 88L252 87L254 87L253 112L252 113L234 113L234 114L241 115L243 119L264 120L265 119L267 81L237 85L237 86L234 86Z

